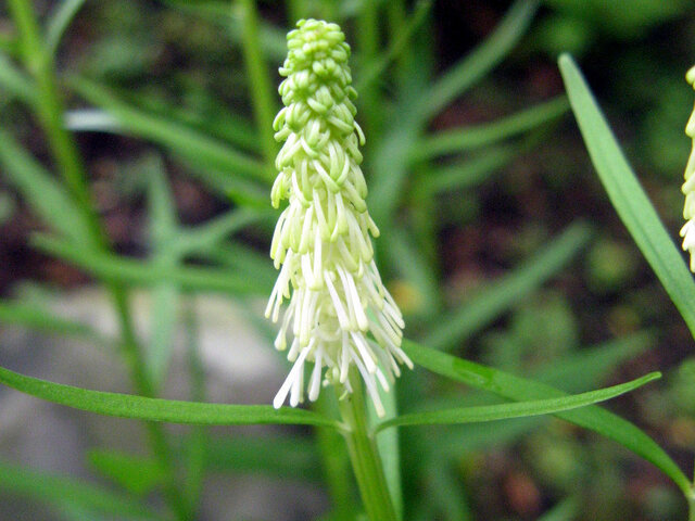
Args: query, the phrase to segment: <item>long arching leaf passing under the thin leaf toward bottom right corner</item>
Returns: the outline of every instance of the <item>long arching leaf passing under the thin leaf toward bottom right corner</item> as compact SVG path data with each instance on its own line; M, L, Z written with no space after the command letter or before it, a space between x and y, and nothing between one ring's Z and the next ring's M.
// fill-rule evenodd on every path
M403 351L416 365L422 366L432 372L476 389L489 391L510 401L546 399L566 396L566 393L549 385L446 355L408 340L404 340ZM654 440L629 421L594 405L569 412L558 412L556 416L618 442L661 469L683 493L690 494L690 481L678 465Z

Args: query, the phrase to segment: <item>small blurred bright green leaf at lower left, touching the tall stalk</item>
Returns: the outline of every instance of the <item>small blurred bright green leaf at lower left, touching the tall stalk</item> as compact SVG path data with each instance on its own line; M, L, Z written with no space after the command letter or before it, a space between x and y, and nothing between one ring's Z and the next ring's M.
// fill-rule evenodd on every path
M154 491L166 480L166 472L149 457L94 448L87 453L87 460L99 473L139 496Z

